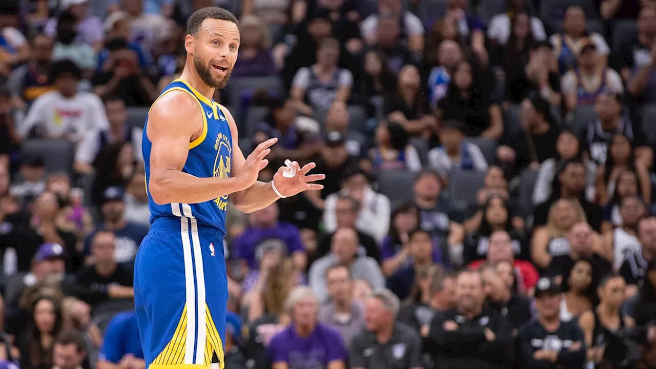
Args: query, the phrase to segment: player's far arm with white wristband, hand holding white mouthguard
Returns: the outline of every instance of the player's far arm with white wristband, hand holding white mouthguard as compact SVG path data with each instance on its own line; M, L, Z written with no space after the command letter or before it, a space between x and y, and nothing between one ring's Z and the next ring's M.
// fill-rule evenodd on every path
M241 148L239 148L239 132L237 132L235 119L232 118L232 114L230 114L227 109L221 110L228 119L230 133L232 133L232 168L230 175L235 177L241 173L246 158L244 157L243 152L241 152ZM306 190L321 190L321 188L323 188L323 185L313 182L321 181L325 178L325 175L308 174L310 170L316 167L316 163L307 163L302 168L297 162L293 162L293 165L296 169L296 175L294 177L284 177L283 171L285 171L286 167L279 167L274 175L273 181L256 181L253 186L230 194L232 204L244 213L253 213L253 211L270 206L279 199L272 186L274 181L278 192L285 197L294 196L295 194L299 194Z

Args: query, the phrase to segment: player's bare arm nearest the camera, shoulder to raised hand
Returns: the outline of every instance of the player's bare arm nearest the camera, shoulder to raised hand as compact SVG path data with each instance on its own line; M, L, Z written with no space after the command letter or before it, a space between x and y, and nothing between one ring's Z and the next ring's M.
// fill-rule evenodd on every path
M257 146L236 177L199 178L182 172L189 142L199 137L203 129L201 114L195 99L181 91L167 93L150 110L146 127L152 142L148 192L156 204L197 204L239 192L252 186L259 171L266 167L268 160L264 157L276 139Z

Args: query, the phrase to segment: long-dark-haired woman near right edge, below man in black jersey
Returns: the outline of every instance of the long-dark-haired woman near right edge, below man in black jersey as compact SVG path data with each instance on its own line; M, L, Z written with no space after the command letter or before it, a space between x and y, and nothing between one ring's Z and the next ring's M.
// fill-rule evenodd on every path
M608 147L608 158L604 165L600 166L597 175L596 193L600 204L606 204L608 207L612 203L610 207L613 208L613 213L604 221L620 225L621 219L617 211L619 201L628 194L633 194L639 195L647 203L650 202L651 180L645 165L636 160L631 140L622 133L614 133L612 136ZM622 189L619 188L621 182ZM634 188L636 192L633 192Z

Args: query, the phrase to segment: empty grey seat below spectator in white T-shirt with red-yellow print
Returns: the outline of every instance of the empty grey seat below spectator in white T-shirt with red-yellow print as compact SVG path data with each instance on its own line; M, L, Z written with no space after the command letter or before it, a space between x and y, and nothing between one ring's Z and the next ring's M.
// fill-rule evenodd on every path
M37 155L43 158L48 173L72 173L75 145L67 140L31 139L22 142L22 155Z

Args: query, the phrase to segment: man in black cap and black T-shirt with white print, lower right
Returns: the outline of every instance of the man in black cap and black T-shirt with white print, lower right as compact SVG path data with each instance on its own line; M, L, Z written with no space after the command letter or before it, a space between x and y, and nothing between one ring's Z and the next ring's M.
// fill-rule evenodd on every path
M524 324L517 336L518 368L583 368L583 331L575 320L560 321L561 299L560 285L540 278L535 286L537 318Z

